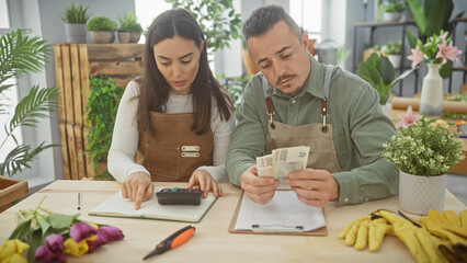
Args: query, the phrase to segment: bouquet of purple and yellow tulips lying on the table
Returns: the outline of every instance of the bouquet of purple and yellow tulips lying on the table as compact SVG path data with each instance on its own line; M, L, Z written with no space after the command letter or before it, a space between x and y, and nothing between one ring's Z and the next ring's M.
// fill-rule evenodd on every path
M41 204L16 214L19 225L0 248L1 263L67 262L66 254L81 256L124 238L118 228L80 220L79 214L52 213ZM27 261L23 256L26 250Z

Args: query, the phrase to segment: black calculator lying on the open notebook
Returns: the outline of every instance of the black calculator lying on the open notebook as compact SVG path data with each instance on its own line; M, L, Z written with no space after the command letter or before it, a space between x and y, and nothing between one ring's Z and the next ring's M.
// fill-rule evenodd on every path
M200 205L202 192L198 188L162 188L156 193L160 205Z

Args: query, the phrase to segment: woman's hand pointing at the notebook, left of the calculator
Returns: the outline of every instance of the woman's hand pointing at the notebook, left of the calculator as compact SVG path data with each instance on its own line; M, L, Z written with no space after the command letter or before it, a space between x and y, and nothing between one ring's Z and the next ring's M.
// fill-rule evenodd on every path
M141 203L149 199L155 192L149 174L135 172L122 183L122 196L132 198L135 202L135 210L141 207Z

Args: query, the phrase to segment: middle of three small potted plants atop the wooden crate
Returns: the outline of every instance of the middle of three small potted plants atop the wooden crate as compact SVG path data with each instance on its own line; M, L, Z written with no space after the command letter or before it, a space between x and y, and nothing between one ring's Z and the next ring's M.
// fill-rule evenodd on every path
M86 25L86 30L91 31L91 38L95 44L113 43L115 28L115 22L102 15L90 19Z

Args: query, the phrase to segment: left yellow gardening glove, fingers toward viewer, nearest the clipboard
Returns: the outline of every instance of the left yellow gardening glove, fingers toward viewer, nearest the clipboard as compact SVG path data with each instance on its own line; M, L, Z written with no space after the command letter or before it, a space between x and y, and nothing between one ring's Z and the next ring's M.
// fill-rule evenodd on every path
M356 250L364 250L368 244L371 252L378 251L386 233L392 231L392 226L378 215L372 213L348 224L339 233L340 239L345 239L346 245L354 245Z

